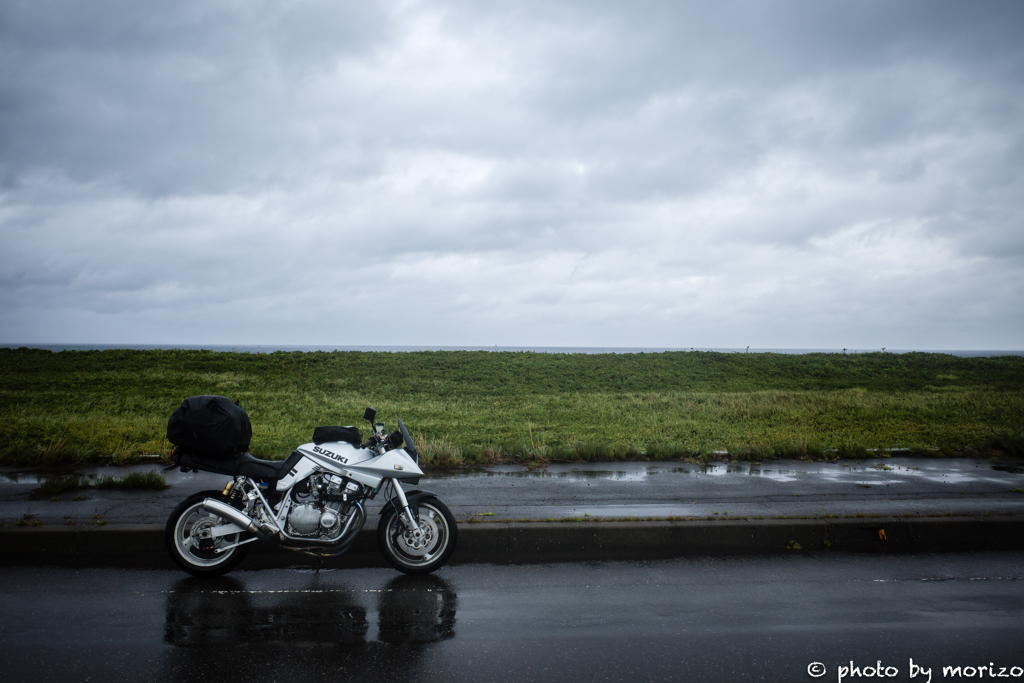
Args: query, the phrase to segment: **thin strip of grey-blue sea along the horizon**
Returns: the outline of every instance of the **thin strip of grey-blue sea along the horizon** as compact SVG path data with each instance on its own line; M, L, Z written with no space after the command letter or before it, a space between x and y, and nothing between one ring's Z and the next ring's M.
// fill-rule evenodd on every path
M962 357L991 357L997 355L1024 355L1017 349L925 349L925 348L754 348L754 347L697 347L697 346L345 346L345 345L289 345L289 344L5 344L0 348L41 348L49 351L105 351L113 349L194 349L233 351L238 353L273 353L274 351L370 351L409 353L412 351L493 351L534 353L664 353L666 351L716 351L719 353L948 353Z

